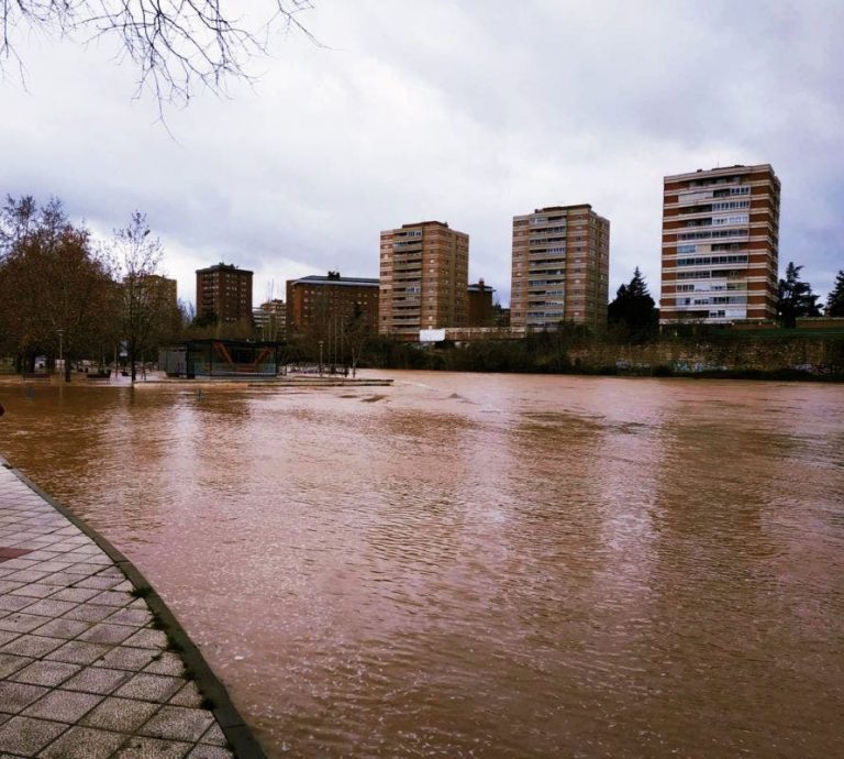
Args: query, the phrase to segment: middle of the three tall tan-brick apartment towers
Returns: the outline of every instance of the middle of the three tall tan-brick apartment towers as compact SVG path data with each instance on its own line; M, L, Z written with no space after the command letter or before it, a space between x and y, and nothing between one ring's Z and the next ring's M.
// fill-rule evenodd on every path
M607 324L610 222L589 204L513 217L510 324L554 330L560 321Z

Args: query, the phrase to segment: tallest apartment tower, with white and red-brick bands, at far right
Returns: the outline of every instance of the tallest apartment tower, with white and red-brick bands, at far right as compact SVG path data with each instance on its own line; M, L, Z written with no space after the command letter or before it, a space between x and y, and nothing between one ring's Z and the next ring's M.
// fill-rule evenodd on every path
M659 322L774 319L778 244L768 164L665 177Z

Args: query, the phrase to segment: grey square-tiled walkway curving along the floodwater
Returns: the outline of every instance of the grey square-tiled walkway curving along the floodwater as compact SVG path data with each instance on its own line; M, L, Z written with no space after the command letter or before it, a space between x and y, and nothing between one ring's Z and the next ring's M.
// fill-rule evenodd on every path
M59 508L0 459L0 759L262 756L251 736L232 748L246 728L203 700L182 651L199 654L143 578L129 571L138 594L127 562Z

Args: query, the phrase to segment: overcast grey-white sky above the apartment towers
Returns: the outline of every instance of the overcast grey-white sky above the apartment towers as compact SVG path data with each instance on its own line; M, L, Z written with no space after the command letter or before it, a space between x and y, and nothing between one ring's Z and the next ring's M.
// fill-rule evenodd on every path
M255 272L256 305L329 268L377 277L380 230L438 219L506 305L514 215L591 204L611 297L636 265L657 297L663 176L769 163L780 276L803 264L825 299L844 268L842 0L314 3L326 47L273 37L257 81L169 109L169 133L113 47L18 30L0 193L102 235L146 212L191 301L220 261Z

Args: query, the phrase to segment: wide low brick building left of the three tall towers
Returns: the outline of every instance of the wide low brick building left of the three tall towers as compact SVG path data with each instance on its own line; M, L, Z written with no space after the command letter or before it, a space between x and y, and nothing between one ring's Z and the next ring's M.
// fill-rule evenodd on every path
M351 326L355 318L363 319L362 323L375 331L378 323L378 279L343 277L340 272L288 279L288 337L320 337L323 332Z

